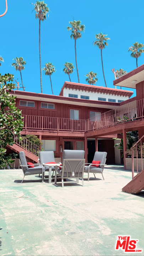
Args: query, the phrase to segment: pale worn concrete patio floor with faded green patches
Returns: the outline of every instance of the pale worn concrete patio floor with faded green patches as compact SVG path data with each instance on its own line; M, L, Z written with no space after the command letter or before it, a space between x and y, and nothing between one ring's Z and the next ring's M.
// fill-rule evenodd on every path
M49 184L21 169L0 170L0 255L124 255L117 236L139 239L144 255L144 193L122 192L132 177L107 165L97 179ZM32 179L32 180L31 180Z

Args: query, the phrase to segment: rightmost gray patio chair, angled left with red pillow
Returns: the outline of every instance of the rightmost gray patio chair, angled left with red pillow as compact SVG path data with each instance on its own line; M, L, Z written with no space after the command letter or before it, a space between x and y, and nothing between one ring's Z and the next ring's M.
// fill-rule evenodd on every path
M85 164L85 165L88 165L88 166L85 166L85 168L84 168L84 172L86 172L88 174L88 181L89 181L90 172L92 172L94 174L94 176L96 173L101 173L101 174L103 173L103 169L104 169L104 166L106 163L106 156L107 156L106 152L96 151L95 155L94 155L94 161L101 161L99 167L92 166L94 164L89 164L89 163ZM103 174L102 174L102 177L103 177ZM96 178L96 176L95 176L95 178ZM104 177L103 177L103 180L104 180Z

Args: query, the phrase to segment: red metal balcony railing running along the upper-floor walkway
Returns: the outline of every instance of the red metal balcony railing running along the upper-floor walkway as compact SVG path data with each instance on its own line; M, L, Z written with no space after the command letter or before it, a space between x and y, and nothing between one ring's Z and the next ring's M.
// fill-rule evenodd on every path
M87 132L144 117L144 99L132 101L87 120L23 115L25 129Z

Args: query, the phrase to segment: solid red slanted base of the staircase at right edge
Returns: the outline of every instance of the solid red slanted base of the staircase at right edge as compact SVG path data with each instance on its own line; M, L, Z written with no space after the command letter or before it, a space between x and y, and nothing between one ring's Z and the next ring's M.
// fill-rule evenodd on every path
M122 188L123 192L131 194L137 194L142 190L144 190L144 169Z

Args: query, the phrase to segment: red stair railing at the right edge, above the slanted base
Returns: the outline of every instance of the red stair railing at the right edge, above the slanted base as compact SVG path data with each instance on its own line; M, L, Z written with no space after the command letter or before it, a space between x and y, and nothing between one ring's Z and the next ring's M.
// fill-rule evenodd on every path
M134 178L134 157L137 158L137 174L138 174L138 158L141 159L140 170L143 170L143 153L142 153L142 139L144 135L132 146L132 179Z

